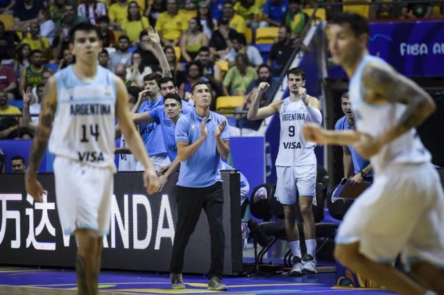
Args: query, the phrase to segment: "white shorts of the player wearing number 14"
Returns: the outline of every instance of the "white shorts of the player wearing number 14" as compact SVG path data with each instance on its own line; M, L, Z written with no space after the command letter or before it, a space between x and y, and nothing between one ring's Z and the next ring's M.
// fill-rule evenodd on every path
M56 204L63 233L70 235L76 229L92 229L99 236L108 234L113 174L109 168L56 157Z

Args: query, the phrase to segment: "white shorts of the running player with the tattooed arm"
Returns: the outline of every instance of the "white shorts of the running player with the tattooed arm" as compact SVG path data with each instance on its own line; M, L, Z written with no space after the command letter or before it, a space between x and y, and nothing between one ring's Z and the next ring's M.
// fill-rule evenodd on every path
M428 261L444 267L444 194L429 163L392 166L352 204L336 243L359 241L359 251L376 262L404 265Z

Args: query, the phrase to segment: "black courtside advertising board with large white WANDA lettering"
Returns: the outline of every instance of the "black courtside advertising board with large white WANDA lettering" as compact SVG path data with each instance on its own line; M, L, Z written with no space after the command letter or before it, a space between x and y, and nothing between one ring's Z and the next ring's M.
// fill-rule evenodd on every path
M242 271L239 173L222 171L224 274ZM114 176L110 233L103 239L103 268L168 271L177 222L173 175L160 193L147 196L142 172ZM63 235L53 174L38 175L48 190L35 203L24 191L24 175L0 175L0 264L74 267L76 239ZM210 268L210 234L202 211L185 251L184 272Z

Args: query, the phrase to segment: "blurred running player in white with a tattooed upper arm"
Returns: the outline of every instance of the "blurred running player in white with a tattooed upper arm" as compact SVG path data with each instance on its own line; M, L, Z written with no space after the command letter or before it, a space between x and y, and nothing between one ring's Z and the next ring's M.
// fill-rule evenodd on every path
M368 35L366 19L347 13L327 30L334 62L350 77L357 130L304 127L310 141L353 145L375 171L373 186L345 214L335 256L400 294L443 294L443 188L414 129L436 106L417 84L368 55ZM410 277L391 267L399 253Z

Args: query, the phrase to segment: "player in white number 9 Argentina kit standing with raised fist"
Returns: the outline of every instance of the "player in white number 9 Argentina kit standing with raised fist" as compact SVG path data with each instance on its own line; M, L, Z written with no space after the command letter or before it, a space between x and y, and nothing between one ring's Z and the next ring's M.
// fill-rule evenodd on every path
M319 101L307 95L305 73L301 68L287 71L290 96L259 109L259 97L270 87L261 82L248 109L248 120L259 120L278 114L280 116L280 145L276 159L275 197L284 206L285 231L295 264L290 271L292 276L302 273L316 273L316 236L314 216L311 208L316 197L316 155L314 143L305 141L302 124L321 124ZM307 253L300 253L299 231L296 225L296 195L299 195L299 211L302 215Z

